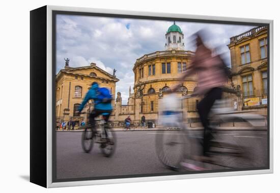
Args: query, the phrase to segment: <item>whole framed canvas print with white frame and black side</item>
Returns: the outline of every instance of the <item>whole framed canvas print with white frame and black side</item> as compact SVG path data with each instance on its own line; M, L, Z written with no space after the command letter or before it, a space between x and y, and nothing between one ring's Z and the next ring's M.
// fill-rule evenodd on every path
M31 182L273 172L273 21L31 13Z

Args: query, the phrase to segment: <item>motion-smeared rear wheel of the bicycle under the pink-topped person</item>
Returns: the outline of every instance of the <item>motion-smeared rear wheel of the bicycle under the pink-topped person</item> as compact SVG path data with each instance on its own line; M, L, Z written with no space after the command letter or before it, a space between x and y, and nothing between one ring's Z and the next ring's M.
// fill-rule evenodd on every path
M217 116L218 117L218 116ZM229 118L223 116L222 119L215 118L215 128L227 123L238 123L246 127L246 130L219 131L216 130L215 141L210 148L210 154L214 157L215 164L221 168L252 168L258 167L262 161L264 148L261 147L262 137L258 136L253 126L248 120L239 116L231 115ZM213 127L213 126L212 126ZM213 127L214 128L214 127ZM256 152L256 146L262 152ZM216 167L214 167L217 169Z

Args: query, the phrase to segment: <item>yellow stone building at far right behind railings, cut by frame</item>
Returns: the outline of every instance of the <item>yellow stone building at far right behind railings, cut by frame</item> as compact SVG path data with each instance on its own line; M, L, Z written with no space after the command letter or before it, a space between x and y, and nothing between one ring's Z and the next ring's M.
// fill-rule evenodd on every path
M257 27L230 38L232 76L238 110L267 114L267 27Z

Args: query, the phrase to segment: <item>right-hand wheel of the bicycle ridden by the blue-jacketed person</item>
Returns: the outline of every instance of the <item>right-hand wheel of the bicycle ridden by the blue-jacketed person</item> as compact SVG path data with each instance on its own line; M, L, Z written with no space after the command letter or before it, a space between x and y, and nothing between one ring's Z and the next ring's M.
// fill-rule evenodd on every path
M115 132L110 129L106 129L106 132L106 142L101 143L101 152L105 157L110 157L116 150L116 135Z

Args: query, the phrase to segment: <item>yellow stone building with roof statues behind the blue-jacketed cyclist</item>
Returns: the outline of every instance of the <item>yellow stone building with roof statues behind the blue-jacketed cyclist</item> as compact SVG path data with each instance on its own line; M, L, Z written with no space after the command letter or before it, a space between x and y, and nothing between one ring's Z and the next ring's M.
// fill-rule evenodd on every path
M57 121L59 122L63 120L67 122L71 118L76 122L80 122L82 119L87 121L88 114L79 115L76 111L83 98L85 98L91 84L97 82L100 87L108 88L113 97L115 97L116 82L119 81L115 75L110 75L96 66L95 63L82 67L70 67L66 63L65 69L59 71L55 80L55 107ZM112 105L115 106L114 100L112 101ZM93 103L89 102L84 111L89 112L92 108ZM114 119L114 113L111 119Z

